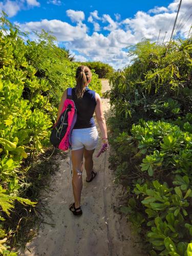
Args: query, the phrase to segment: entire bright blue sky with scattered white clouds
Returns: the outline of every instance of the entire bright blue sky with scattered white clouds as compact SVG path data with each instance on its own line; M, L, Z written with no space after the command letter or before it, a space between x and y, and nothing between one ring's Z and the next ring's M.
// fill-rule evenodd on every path
M69 1L4 0L4 10L11 22L30 32L51 30L76 60L100 60L114 68L129 63L126 46L142 38L160 42L169 39L179 0ZM187 37L192 24L192 0L183 0L177 32Z

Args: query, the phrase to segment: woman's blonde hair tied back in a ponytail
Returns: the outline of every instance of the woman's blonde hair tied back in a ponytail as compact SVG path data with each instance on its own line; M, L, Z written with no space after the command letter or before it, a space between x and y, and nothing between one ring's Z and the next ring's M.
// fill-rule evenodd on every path
M86 85L92 78L91 70L87 66L79 66L76 71L76 88L75 93L77 98L82 98L84 91L86 90Z

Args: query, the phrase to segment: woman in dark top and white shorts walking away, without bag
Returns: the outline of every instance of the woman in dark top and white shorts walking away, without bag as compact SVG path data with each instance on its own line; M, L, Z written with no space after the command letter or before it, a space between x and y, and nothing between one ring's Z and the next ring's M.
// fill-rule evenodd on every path
M77 109L77 121L71 135L72 143L72 165L73 165L73 195L74 203L69 209L74 215L81 215L80 197L82 190L82 164L84 156L84 167L87 173L87 182L91 182L97 172L93 170L93 153L97 146L98 132L95 126L93 114L95 112L99 129L102 135L102 145L107 143L108 136L106 124L102 111L102 102L98 93L90 90L88 84L91 82L92 73L86 66L80 66L76 71L76 87L72 89L72 99ZM63 93L57 116L61 114L62 106L67 98L67 90ZM102 146L101 145L101 146Z

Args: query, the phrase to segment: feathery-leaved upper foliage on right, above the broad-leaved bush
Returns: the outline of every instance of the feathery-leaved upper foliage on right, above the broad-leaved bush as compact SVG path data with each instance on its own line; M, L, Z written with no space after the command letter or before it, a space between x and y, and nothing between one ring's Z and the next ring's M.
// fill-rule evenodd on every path
M133 64L114 73L110 97L113 113L129 120L176 120L192 111L191 38L165 46L143 41L130 49ZM181 115L182 114L182 115Z

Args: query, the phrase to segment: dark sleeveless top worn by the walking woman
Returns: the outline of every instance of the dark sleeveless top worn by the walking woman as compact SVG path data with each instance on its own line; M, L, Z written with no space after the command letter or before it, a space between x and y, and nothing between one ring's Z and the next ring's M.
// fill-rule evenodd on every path
M96 100L95 91L86 87L82 98L77 99L75 88L72 89L72 99L77 109L77 121L73 129L83 129L95 126L93 114L95 111Z

